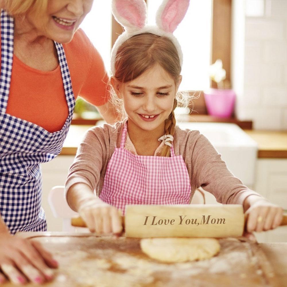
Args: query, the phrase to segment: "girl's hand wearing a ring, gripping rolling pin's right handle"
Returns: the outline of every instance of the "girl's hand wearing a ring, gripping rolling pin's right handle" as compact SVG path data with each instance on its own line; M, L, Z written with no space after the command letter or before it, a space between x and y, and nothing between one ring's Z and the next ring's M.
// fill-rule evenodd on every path
M261 232L274 229L280 225L283 218L283 208L265 198L257 198L250 203L250 207L245 214L248 214L247 232ZM247 235L247 237L249 236Z

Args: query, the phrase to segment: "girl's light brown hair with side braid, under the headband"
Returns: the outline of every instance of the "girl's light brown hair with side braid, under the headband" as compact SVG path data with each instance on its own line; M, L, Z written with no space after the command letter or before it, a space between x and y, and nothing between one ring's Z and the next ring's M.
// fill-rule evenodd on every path
M158 63L174 79L178 85L180 80L181 65L177 49L170 39L151 33L135 35L125 41L118 49L115 58L115 79L121 83L127 83L139 77L147 69ZM119 112L126 117L123 108L123 100L117 97L111 89L111 100L119 107ZM172 112L165 121L165 134L174 135L176 119L174 109L177 106L186 107L190 96L187 92L178 92L172 108ZM170 147L165 145L159 156L170 156Z

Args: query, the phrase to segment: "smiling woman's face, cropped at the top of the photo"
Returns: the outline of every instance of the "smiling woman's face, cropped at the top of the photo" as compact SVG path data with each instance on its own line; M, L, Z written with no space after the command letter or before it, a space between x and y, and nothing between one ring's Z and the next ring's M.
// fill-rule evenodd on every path
M94 0L48 0L44 13L28 12L28 21L38 34L59 43L68 43L92 8Z

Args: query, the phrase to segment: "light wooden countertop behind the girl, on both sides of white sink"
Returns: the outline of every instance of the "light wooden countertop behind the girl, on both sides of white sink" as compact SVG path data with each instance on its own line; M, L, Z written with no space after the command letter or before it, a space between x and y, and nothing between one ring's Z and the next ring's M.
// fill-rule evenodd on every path
M60 155L75 155L92 125L71 125ZM258 158L287 158L287 131L244 130L258 144Z

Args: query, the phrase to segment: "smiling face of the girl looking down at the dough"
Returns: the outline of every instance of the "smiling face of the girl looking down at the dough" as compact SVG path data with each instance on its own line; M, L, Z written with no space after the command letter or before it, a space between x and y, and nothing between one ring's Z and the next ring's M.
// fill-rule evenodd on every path
M145 131L164 129L164 121L172 112L178 85L158 64L133 81L124 83L122 95L129 121Z

